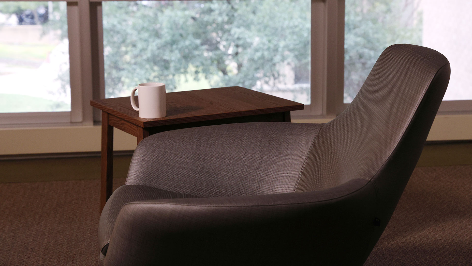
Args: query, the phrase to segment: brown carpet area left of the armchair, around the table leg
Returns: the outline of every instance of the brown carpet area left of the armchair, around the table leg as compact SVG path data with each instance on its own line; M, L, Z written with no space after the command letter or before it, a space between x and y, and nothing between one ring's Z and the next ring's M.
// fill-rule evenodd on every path
M99 179L0 184L0 203L0 266L100 265Z

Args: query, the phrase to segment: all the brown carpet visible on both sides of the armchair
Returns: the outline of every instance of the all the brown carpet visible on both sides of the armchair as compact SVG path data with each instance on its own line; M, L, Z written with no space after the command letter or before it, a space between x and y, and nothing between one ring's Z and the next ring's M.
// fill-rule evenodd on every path
M99 265L99 185L0 184L0 265ZM471 210L472 166L416 168L365 265L471 265Z

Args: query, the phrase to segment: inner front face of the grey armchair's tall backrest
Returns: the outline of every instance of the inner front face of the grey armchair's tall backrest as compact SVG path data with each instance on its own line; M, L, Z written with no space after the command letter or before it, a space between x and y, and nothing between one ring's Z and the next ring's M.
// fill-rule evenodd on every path
M425 47L388 47L349 107L321 128L295 191L374 177L405 133L436 72L445 65L446 57Z

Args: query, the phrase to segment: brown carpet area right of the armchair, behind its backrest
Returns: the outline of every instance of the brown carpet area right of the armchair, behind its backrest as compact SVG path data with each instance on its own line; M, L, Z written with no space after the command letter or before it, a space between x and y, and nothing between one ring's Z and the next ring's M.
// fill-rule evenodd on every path
M472 265L472 166L415 169L364 264L374 265Z

